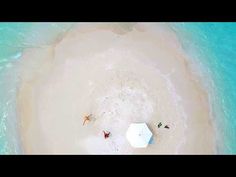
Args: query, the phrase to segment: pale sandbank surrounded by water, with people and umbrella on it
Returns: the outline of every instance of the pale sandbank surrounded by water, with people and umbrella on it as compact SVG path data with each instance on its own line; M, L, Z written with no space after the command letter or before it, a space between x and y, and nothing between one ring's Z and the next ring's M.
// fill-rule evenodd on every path
M207 96L186 62L164 24L79 24L56 44L26 51L18 93L25 152L214 153ZM148 148L127 142L132 122L152 130Z

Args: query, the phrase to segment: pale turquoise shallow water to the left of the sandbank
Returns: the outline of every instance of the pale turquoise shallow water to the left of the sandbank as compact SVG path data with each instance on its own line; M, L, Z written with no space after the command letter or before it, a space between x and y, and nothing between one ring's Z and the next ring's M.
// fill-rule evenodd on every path
M0 154L20 153L17 136L15 65L21 52L50 44L71 23L0 23Z

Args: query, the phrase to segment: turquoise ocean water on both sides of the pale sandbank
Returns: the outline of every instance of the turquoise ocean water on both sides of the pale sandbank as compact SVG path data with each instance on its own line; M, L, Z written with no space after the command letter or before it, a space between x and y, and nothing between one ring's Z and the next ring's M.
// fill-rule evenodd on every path
M217 152L236 154L236 23L171 23L209 93ZM21 153L14 69L21 53L50 44L71 23L0 23L0 154ZM200 72L199 72L200 70Z

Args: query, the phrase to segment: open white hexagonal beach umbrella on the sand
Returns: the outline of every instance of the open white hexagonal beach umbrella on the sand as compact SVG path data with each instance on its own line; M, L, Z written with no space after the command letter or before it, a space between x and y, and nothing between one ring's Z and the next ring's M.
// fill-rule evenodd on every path
M126 132L126 138L131 146L145 148L152 138L152 132L145 123L132 123Z

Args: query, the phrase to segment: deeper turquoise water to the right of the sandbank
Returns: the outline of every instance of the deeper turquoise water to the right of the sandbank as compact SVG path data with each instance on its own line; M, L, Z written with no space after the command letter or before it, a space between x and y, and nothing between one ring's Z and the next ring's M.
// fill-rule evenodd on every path
M208 89L218 153L236 154L236 23L178 23L173 28L191 58L210 76Z

